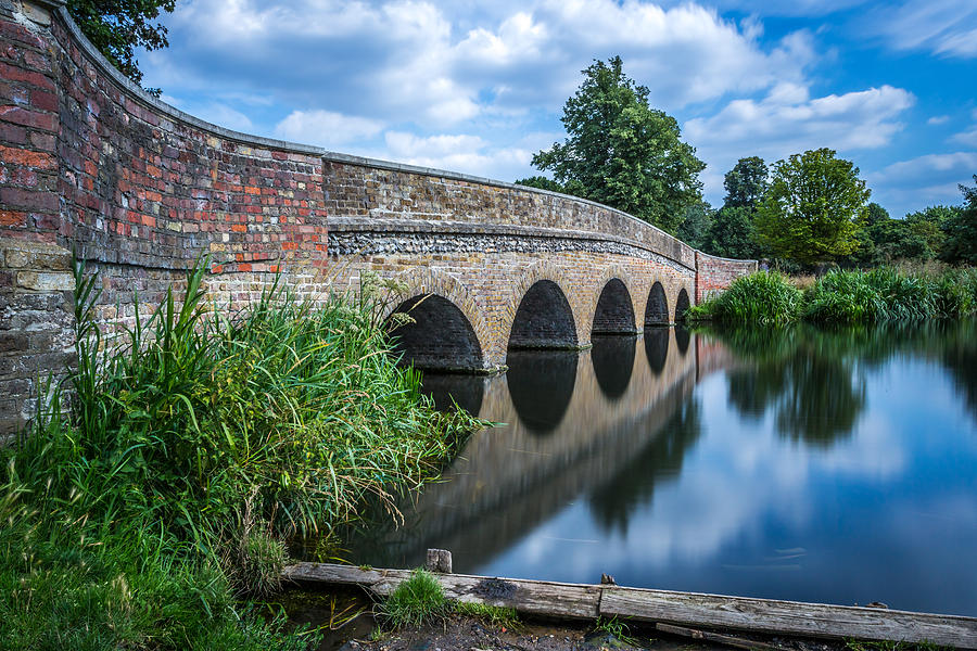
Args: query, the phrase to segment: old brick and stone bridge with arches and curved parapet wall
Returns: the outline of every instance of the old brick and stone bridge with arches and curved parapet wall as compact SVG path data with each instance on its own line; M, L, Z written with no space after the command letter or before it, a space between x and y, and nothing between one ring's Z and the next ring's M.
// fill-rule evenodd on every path
M204 123L122 77L62 0L0 2L0 434L72 362L72 250L100 273L109 327L201 252L228 309L279 272L314 299L396 278L408 356L480 371L673 322L756 269L593 202Z

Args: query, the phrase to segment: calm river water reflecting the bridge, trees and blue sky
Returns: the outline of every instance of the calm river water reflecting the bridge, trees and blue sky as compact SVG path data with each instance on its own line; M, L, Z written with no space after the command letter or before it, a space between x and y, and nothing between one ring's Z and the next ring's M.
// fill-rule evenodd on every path
M434 376L482 418L357 563L977 615L977 331L649 330Z

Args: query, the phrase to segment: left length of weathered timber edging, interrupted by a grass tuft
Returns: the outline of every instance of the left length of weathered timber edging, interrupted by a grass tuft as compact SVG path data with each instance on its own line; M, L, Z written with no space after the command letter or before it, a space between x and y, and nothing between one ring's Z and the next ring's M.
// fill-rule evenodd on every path
M286 567L284 578L295 582L359 585L385 597L410 576L408 570L360 570L350 565L299 563ZM436 574L445 597L469 603L515 608L533 615L594 620L600 586Z

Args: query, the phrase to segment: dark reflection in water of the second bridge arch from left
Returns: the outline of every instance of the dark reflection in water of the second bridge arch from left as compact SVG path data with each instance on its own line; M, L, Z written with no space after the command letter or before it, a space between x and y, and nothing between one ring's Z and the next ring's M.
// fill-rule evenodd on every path
M519 420L535 434L549 434L563 420L573 387L573 350L509 350L506 382Z

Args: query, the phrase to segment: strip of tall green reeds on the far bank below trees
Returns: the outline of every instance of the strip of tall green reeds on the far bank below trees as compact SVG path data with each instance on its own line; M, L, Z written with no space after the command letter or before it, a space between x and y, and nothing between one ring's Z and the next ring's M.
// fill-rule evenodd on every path
M720 296L689 309L693 321L726 323L871 324L959 318L977 310L977 269L941 272L833 271L800 289L790 278L760 271L737 279Z

